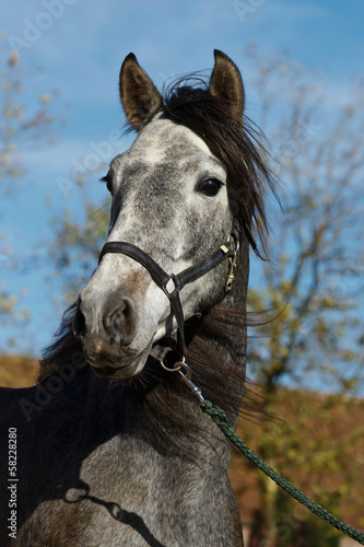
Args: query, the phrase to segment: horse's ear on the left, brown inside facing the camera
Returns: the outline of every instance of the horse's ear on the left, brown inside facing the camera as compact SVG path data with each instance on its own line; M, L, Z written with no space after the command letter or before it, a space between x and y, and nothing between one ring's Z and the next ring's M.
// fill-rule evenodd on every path
M139 131L161 108L162 95L134 54L129 54L121 66L119 90L127 120Z

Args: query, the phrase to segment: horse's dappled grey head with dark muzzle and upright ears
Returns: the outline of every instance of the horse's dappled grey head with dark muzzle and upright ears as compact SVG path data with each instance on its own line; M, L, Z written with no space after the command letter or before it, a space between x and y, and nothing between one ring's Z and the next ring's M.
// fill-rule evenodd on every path
M204 264L231 237L237 214L231 198L228 149L222 144L224 153L215 153L206 136L212 126L216 135L224 133L224 116L214 119L218 106L226 124L234 120L242 133L244 88L234 62L221 51L214 55L206 89L180 86L169 102L133 54L122 63L121 103L138 137L111 161L104 178L113 196L108 252L82 290L73 322L98 375L136 375L153 346L178 327L168 292L161 290L151 269L132 254L109 252L110 244L126 242L171 275ZM251 217L247 195L245 220ZM222 259L178 291L185 319L223 299L228 268L230 260Z

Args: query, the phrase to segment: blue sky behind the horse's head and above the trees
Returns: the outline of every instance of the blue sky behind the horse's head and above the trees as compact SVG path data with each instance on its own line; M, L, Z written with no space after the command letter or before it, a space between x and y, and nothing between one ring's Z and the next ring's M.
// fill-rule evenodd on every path
M0 54L19 47L24 63L42 67L42 72L25 82L24 101L36 104L42 93L59 88L55 112L66 113L68 125L51 147L30 150L23 156L27 175L16 196L2 200L0 234L3 246L14 257L31 255L39 238L49 232L51 213L64 207L74 211L83 194L70 188L62 193L60 178L70 178L75 162L93 154L95 147L109 142L110 156L127 148L130 137L116 142L110 133L124 124L118 97L118 72L126 55L133 51L157 85L165 78L187 71L211 68L213 49L222 49L238 65L247 89L247 114L254 117L255 97L249 93L251 67L245 65L247 40L260 49L290 50L292 59L320 69L330 82L331 100L340 106L347 96L349 79L363 77L364 3L294 0L14 0L2 2ZM105 153L105 162L107 162ZM95 199L104 189L98 174L87 191ZM9 265L9 263L8 263ZM0 266L2 289L28 294L22 305L31 309L26 330L11 325L2 328L0 348L7 350L9 336L17 338L22 349L38 353L47 345L59 323L50 304L57 291L44 281L44 265L26 275L14 274L7 261Z

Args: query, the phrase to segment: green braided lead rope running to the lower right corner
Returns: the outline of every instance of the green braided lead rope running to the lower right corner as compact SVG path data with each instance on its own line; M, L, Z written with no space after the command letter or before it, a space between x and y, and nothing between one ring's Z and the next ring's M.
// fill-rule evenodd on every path
M227 416L222 410L215 405L212 405L210 400L204 400L204 403L201 403L201 409L203 412L207 412L213 421L219 426L219 428L222 430L222 432L230 439L230 441L235 444L235 446L248 458L250 459L254 465L259 467L262 472L265 472L268 477L270 477L272 480L274 480L281 488L283 488L286 492L289 492L290 496L295 498L300 503L305 505L309 511L315 513L317 516L326 521L328 524L331 524L334 528L339 529L340 532L343 532L347 534L349 537L352 537L355 539L357 543L361 545L364 545L364 534L359 532L357 529L349 526L348 524L343 523L336 516L333 516L331 513L326 511L321 505L318 503L315 503L315 501L310 500L305 496L301 490L298 490L296 487L291 485L284 477L282 477L279 473L277 473L274 469L272 469L269 465L267 465L255 452L253 452L249 446L247 446L242 439L237 435L235 432L234 428L232 424L228 422Z

